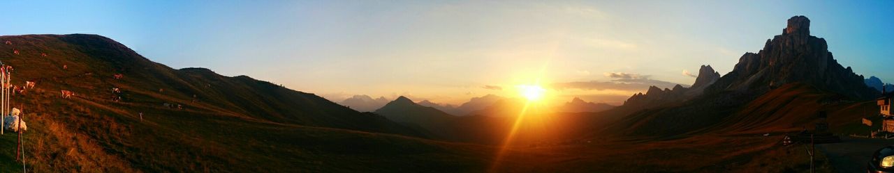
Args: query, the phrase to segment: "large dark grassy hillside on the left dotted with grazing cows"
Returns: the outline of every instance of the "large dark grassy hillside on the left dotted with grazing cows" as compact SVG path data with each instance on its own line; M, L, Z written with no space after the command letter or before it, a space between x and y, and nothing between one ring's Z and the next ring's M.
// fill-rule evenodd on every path
M0 40L13 43L0 45L3 63L15 67L13 84L37 83L13 98L31 126L24 135L26 147L38 153L29 154L29 169L290 172L294 167L336 169L301 161L366 157L314 153L387 146L350 138L406 141L406 155L440 147L418 138L371 137L423 134L384 116L359 113L248 76L166 67L100 35L14 35ZM116 74L123 78L114 79ZM111 92L113 87L122 92ZM59 90L76 95L63 99ZM114 101L117 97L121 100ZM0 138L14 141L9 134ZM2 145L15 148L14 143ZM6 164L14 162L7 162L0 164L12 168Z

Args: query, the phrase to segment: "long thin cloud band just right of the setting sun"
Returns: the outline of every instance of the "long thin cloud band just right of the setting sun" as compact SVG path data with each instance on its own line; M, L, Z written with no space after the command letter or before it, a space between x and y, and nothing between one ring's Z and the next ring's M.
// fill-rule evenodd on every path
M613 78L611 81L587 81L587 82L569 82L569 83L552 83L553 89L579 89L579 90L647 90L650 86L659 88L673 88L679 83L671 83L649 79L650 75L627 74L627 73L605 73L605 76ZM687 86L679 84L682 86Z

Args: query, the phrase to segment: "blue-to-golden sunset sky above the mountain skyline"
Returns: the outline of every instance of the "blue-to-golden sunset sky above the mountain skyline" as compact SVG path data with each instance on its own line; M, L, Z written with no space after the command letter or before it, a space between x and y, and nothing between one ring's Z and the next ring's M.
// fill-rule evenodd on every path
M105 35L169 67L333 101L461 104L521 84L603 83L547 93L620 105L648 85L694 83L701 65L724 75L805 15L842 66L894 82L894 1L207 2L2 1L0 35Z

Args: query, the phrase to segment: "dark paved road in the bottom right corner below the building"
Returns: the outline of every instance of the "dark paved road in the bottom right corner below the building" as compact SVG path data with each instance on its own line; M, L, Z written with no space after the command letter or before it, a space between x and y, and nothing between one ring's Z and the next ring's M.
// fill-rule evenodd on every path
M866 162L875 150L887 145L894 145L894 139L849 138L842 137L841 143L816 145L831 161L838 172L865 172Z

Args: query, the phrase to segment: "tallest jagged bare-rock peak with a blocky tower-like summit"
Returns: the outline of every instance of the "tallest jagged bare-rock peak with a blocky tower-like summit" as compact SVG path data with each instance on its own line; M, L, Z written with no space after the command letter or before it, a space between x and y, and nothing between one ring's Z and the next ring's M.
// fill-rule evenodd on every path
M806 83L850 98L868 99L878 95L862 83L863 78L832 57L825 39L810 35L810 20L795 16L789 19L782 35L767 40L763 50L742 55L733 71L705 92L764 93L785 83Z

